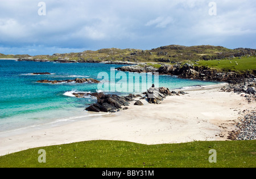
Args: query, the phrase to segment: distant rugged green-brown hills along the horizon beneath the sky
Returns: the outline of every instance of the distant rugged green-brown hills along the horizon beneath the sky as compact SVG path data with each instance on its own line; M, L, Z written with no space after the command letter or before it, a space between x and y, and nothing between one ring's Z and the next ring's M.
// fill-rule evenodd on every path
M28 56L28 55L4 55L0 58L27 58L43 59L45 61L77 61L77 62L102 62L102 61L123 61L123 62L167 62L177 63L183 61L198 61L211 59L224 59L242 56L255 56L256 49L238 48L228 49L223 46L200 45L181 46L167 45L151 50L140 49L100 49L86 50L80 53L53 54L52 56Z

